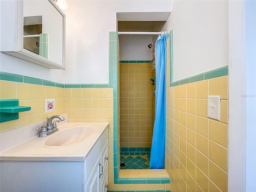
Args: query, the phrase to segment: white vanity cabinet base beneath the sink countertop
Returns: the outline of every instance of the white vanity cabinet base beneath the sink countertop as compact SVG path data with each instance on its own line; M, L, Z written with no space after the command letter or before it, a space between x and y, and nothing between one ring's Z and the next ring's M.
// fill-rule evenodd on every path
M62 160L58 160L60 156L52 157L52 160L43 160L44 157L41 157L42 160L1 160L0 191L106 192L108 190L108 128L102 132L90 152L86 154L85 160L72 160L72 154L62 156Z

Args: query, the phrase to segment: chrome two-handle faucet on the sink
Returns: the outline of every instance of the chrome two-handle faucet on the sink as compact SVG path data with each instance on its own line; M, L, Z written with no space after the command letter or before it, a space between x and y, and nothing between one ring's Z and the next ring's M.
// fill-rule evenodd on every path
M46 118L46 120L47 120L46 126L41 125L41 126L38 126L38 127L36 128L36 131L37 131L39 128L41 128L41 132L40 132L40 134L39 134L39 137L46 137L46 136L48 136L48 135L50 135L50 134L53 134L53 133L55 133L55 132L58 131L58 128L57 128L56 123L57 123L57 122L60 122L60 121L59 121L59 120L56 120L56 121L54 121L53 124L52 124L52 120L53 120L54 118L58 118L60 121L64 121L64 120L65 120L61 115L53 115L53 116L51 116L50 118L47 117L47 118Z

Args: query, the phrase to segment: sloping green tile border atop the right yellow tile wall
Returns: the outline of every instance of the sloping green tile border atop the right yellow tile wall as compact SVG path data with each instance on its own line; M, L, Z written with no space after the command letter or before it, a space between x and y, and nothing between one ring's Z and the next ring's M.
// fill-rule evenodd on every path
M222 77L222 76L226 76L226 75L228 75L228 66L216 68L216 69L213 69L213 70L210 70L210 71L207 71L204 73L200 73L200 74L188 77L188 78L170 82L170 87L193 83L193 82L202 81L202 80L206 80L206 79Z

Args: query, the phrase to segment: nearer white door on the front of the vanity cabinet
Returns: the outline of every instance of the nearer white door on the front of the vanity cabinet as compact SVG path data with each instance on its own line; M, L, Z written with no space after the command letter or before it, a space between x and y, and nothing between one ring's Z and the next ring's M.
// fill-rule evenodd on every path
M83 187L84 192L100 192L100 157Z

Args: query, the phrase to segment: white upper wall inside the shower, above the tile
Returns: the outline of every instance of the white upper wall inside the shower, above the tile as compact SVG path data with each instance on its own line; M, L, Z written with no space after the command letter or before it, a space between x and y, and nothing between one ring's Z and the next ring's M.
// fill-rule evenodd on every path
M152 35L119 35L120 60L151 60L153 48Z

